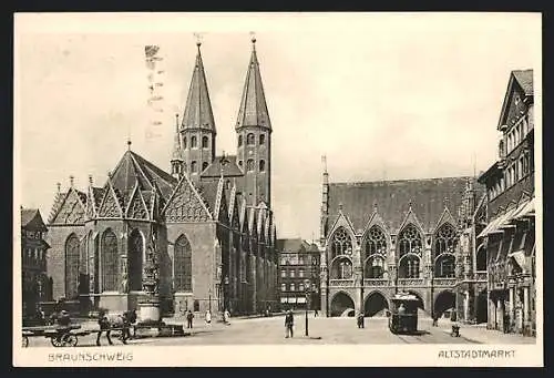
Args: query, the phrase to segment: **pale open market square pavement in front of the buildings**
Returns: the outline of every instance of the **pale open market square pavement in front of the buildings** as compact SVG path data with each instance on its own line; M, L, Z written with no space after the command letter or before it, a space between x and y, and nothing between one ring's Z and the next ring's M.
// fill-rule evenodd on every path
M214 323L207 326L204 321L195 321L194 328L185 331L191 334L185 337L157 337L130 340L134 346L171 346L171 345L285 345L285 344L530 344L534 338L525 338L513 335L503 335L483 327L462 325L462 337L451 337L449 334L450 321L432 327L430 319L420 319L419 335L393 335L387 326L387 318L366 318L366 328L359 329L353 318L314 318L311 314L309 321L309 337L305 336L304 315L295 316L294 338L285 338L285 326L283 317L232 319L230 325ZM181 323L178 320L174 323ZM98 326L96 326L98 327ZM85 328L85 327L83 327ZM86 328L91 329L91 328ZM500 336L499 336L500 335ZM499 337L504 337L499 343ZM79 337L78 347L95 346L96 335ZM102 336L102 345L107 340ZM115 345L121 341L113 337ZM51 347L45 338L33 337L30 347Z

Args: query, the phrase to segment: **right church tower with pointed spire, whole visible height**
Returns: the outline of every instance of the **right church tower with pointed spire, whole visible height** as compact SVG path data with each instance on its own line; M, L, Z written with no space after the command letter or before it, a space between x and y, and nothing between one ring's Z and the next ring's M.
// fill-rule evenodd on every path
M238 110L237 161L245 173L244 195L248 205L271 201L271 122L261 85L256 39L252 39L252 55Z

